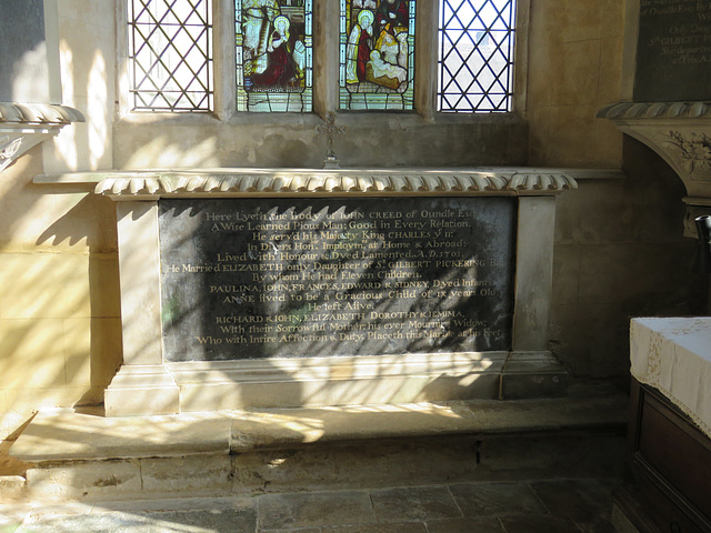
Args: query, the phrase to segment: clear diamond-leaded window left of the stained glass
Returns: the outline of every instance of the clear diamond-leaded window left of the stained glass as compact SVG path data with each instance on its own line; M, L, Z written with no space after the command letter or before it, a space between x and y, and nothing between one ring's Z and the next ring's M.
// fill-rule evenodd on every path
M134 111L212 109L210 0L129 0Z

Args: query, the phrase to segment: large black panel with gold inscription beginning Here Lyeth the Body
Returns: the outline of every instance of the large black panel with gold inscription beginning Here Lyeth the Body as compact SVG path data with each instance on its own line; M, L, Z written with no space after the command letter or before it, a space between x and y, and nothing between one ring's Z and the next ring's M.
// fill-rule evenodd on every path
M161 200L167 360L508 350L515 208Z

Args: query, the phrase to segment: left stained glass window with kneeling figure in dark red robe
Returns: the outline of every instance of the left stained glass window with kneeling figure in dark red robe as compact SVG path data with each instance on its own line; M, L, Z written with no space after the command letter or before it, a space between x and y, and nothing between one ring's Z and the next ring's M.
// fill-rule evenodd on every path
M311 111L311 0L236 0L238 111Z

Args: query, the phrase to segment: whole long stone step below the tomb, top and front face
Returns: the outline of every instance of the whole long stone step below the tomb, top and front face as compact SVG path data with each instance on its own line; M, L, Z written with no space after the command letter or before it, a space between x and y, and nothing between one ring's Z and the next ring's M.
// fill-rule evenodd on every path
M117 500L604 475L624 394L104 418L39 413L6 499ZM617 473L617 472L615 472Z

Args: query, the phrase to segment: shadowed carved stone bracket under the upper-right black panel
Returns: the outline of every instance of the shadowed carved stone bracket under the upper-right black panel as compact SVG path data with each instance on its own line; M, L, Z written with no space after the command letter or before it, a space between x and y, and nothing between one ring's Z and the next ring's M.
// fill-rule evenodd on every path
M684 234L695 238L693 218L711 214L711 102L622 102L598 118L612 120L677 172L688 194Z

